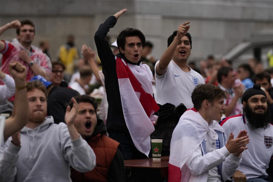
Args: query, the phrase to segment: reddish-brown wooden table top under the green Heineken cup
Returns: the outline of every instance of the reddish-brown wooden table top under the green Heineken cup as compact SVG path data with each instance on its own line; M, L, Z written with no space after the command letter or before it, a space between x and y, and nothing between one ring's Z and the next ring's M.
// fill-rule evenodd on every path
M137 168L164 169L168 168L169 157L170 156L161 157L160 161L153 161L152 158L124 160L124 166Z

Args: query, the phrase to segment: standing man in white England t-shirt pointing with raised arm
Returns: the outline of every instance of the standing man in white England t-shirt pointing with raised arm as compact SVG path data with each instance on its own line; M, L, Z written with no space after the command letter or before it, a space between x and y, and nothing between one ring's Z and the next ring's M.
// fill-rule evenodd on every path
M183 103L192 108L191 93L198 84L205 83L203 77L187 66L192 48L191 35L188 33L190 22L181 24L168 38L168 48L155 65L157 103Z

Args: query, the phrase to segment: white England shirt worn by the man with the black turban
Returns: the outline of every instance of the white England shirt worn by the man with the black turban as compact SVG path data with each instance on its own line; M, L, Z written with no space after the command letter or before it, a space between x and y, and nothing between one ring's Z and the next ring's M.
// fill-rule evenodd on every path
M224 128L227 136L232 132L234 138L238 136L240 131L246 130L249 135L248 149L244 150L242 162L239 167L241 171L248 178L267 175L265 170L268 168L270 158L273 154L273 126L265 128L258 128L252 130L250 124L244 115L227 117L222 120L220 125Z

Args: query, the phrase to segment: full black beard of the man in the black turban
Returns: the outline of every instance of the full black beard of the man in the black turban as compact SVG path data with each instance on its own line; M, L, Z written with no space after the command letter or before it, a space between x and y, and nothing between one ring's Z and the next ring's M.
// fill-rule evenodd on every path
M254 109L264 109L264 106L257 106ZM269 112L270 108L267 108L263 114L255 113L251 110L248 103L246 104L245 108L243 109L243 112L245 116L248 119L248 122L250 124L251 130L255 130L257 128L265 127L267 128L269 126L269 123L271 121L271 113Z

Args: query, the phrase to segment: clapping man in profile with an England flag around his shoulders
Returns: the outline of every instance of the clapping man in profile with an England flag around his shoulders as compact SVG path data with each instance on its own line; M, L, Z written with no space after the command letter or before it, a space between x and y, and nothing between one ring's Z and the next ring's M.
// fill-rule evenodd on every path
M227 93L215 85L201 84L192 93L194 108L188 109L174 129L170 143L170 182L226 182L241 163L249 139L238 137L218 124L226 108Z

